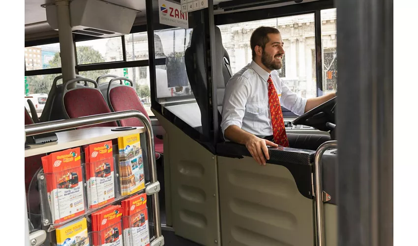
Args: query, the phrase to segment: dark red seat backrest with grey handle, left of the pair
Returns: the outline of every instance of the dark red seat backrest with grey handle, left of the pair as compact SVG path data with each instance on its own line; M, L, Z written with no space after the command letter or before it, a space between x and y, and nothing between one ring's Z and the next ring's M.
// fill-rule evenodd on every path
M68 85L78 81L90 82L92 87L80 87L68 89ZM71 79L63 85L62 111L67 119L79 118L83 116L111 113L102 93L98 89L97 82L86 78ZM101 123L80 128L96 126L118 126L116 122Z

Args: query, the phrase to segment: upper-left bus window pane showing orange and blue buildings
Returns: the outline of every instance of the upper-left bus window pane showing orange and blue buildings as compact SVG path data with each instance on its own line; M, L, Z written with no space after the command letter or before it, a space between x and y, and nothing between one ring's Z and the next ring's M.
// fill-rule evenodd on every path
M46 44L25 48L25 58L38 57L36 60L25 60L26 70L61 67L60 44Z

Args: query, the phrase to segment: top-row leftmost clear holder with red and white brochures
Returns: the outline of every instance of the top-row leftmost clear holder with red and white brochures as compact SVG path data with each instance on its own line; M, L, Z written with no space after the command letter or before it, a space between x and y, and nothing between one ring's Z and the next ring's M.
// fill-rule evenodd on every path
M38 174L41 219L53 231L87 213L85 164L56 173Z

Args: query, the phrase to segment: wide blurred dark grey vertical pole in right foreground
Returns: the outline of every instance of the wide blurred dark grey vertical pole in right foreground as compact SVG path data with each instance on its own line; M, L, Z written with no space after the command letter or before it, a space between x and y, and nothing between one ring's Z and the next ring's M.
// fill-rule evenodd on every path
M393 0L336 7L338 246L393 246Z

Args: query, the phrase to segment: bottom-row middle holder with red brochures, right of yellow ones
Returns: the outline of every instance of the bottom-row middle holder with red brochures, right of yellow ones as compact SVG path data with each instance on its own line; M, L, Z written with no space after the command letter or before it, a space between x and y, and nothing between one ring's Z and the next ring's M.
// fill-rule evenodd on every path
M125 246L122 236L122 221L101 231L89 232L89 241L90 246Z

